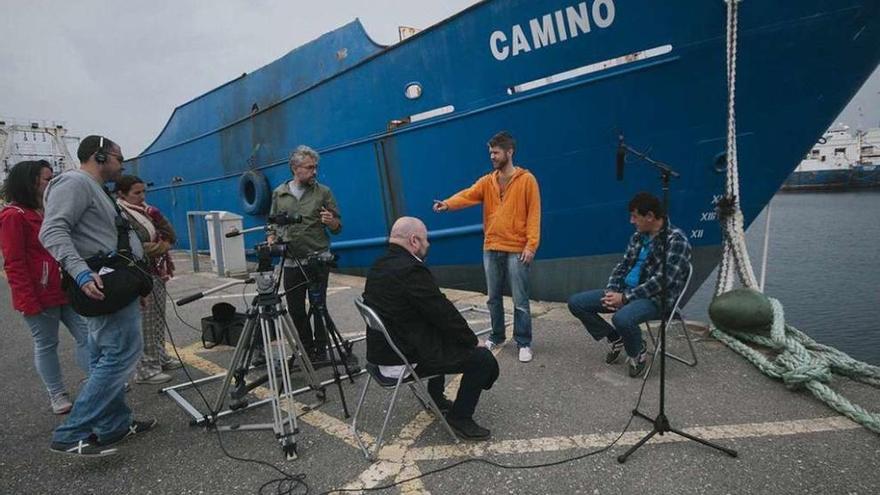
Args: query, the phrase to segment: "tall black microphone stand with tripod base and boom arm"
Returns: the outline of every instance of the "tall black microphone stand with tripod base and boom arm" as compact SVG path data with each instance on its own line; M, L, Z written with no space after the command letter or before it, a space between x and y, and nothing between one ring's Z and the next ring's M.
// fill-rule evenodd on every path
M620 143L618 144L619 148L624 150L624 155L626 153L630 153L640 160L648 163L653 166L657 171L660 172L660 181L663 187L663 210L666 214L663 217L663 228L660 229L660 233L658 235L658 240L660 242L661 249L661 258L660 258L660 348L658 350L660 354L660 407L657 412L657 416L652 418L647 414L642 413L638 409L633 409L632 415L638 416L642 419L648 420L654 424L654 428L648 432L647 435L642 437L641 440L636 442L629 450L626 451L623 455L617 458L617 462L623 464L626 462L627 458L632 455L636 450L638 450L642 445L644 445L648 440L654 437L654 435L663 435L665 433L675 433L681 437L687 438L688 440L693 440L694 442L701 443L708 447L712 447L713 449L720 450L730 457L737 457L737 452L733 449L728 449L726 447L722 447L720 445L714 444L708 440L704 440L702 438L696 437L689 433L685 433L681 430L677 430L670 426L669 418L666 416L666 322L668 318L666 317L667 310L671 310L672 308L666 307L666 296L669 291L668 280L666 276L666 250L668 249L667 241L669 239L669 182L672 179L677 179L681 177L681 175L672 169L669 165L654 160L647 154L635 150L625 144L623 139L621 138ZM656 353L655 353L656 355Z

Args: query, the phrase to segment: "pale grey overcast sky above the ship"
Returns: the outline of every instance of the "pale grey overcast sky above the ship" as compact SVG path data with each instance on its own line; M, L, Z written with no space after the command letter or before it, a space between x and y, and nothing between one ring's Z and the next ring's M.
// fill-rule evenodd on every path
M473 3L0 0L0 116L104 133L134 156L177 105L356 17L388 44L400 25L425 28ZM880 70L840 120L880 123Z

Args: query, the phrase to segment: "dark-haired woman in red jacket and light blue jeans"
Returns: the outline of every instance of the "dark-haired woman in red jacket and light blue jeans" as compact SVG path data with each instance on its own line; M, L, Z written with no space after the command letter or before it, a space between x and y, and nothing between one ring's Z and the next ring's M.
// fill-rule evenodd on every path
M58 323L76 340L76 361L89 372L88 329L67 303L61 289L61 268L40 244L43 191L52 179L45 160L19 162L3 186L8 205L0 211L3 267L12 290L12 306L24 315L34 337L34 364L49 392L52 412L66 414L73 405L58 362Z

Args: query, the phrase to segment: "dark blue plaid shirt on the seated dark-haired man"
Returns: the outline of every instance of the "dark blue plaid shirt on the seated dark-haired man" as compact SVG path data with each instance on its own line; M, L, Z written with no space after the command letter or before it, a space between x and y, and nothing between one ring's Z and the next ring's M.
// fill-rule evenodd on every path
M622 292L627 301L633 299L651 299L657 307L660 307L660 243L651 243L651 253L642 267L642 273L639 277L639 285L633 288L626 287L626 274L636 264L639 257L639 250L642 248L644 236L636 232L630 237L629 245L626 247L626 253L623 260L617 264L608 279L606 289L615 292ZM656 240L656 238L655 238ZM671 309L675 305L675 300L684 289L687 281L688 264L691 260L691 245L687 240L687 235L681 229L674 225L669 225L669 237L666 242L668 249L666 253L666 273L668 274L668 292L666 297L666 307Z

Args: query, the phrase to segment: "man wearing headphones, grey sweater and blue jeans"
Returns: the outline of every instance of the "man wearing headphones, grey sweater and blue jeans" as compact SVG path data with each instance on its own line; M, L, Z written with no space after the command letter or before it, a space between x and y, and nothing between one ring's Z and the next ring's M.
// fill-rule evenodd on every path
M103 136L88 136L77 150L79 170L52 180L44 193L45 218L40 242L58 260L79 289L94 300L103 300L101 273L86 260L117 248L116 203L104 187L122 173L119 145ZM143 257L143 246L129 230L131 254ZM50 449L81 456L116 453L111 445L144 433L156 420L132 418L125 403L125 384L143 349L141 308L135 299L122 309L85 317L92 368L80 388L70 416L55 429Z

